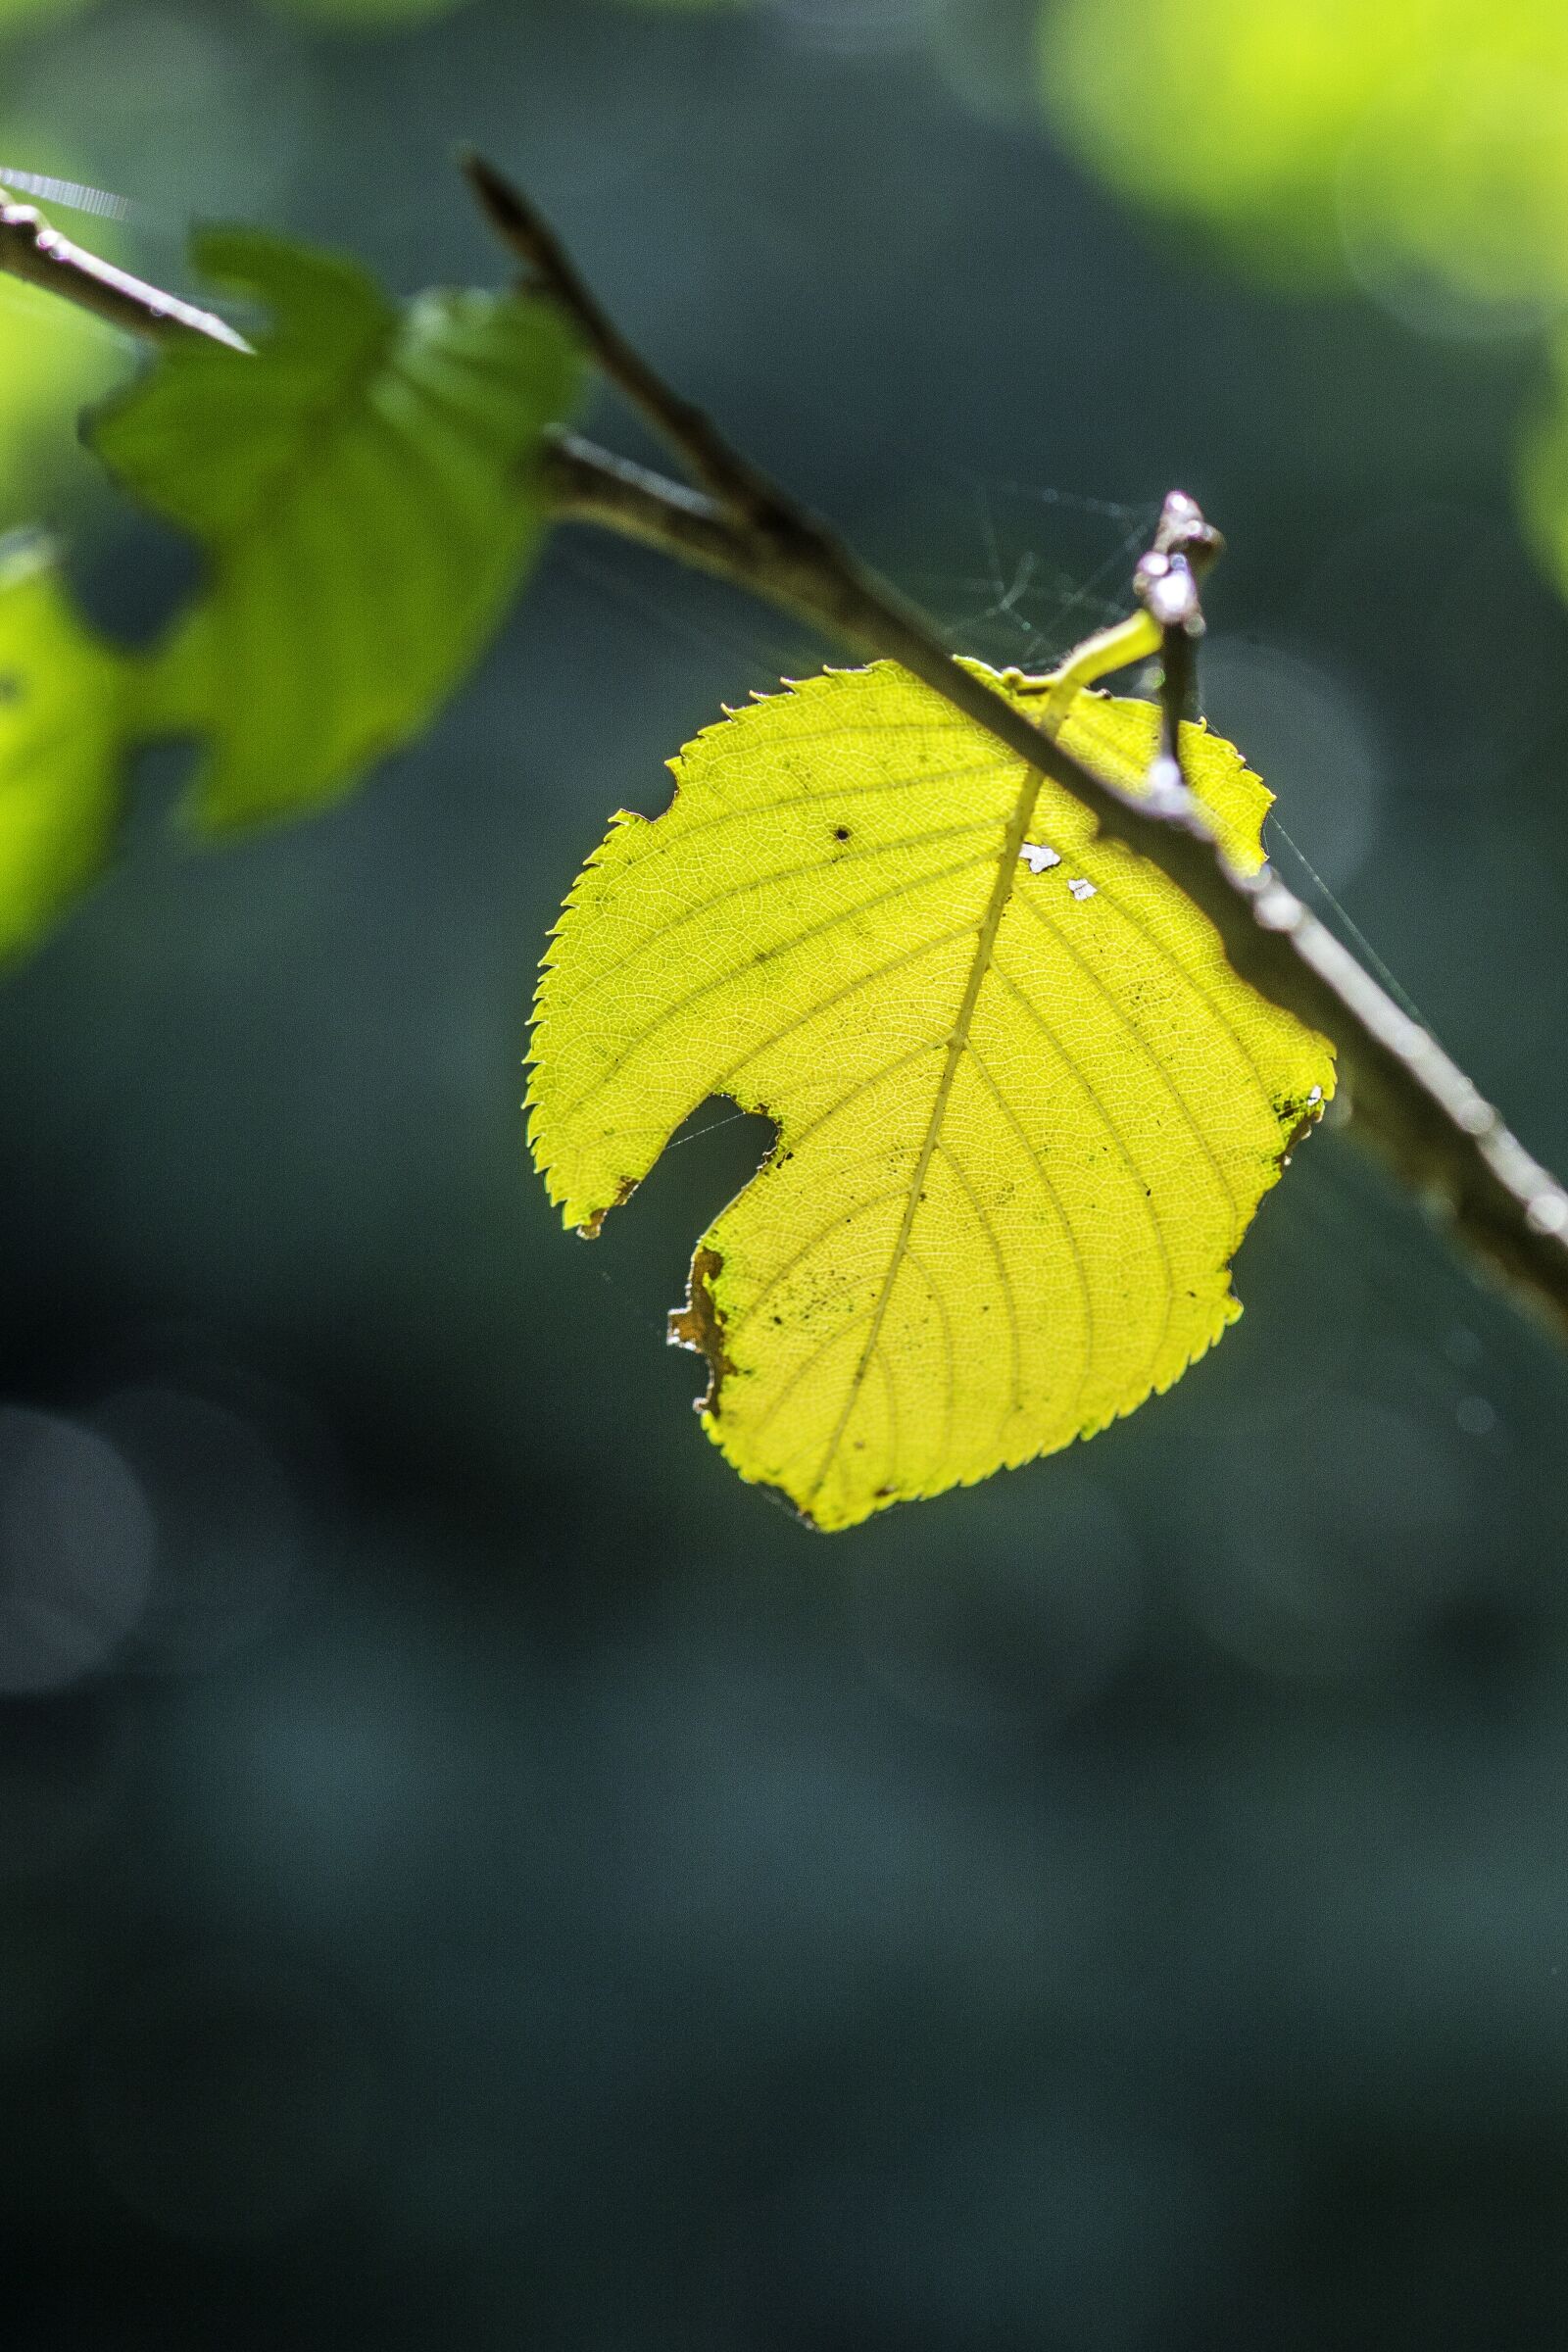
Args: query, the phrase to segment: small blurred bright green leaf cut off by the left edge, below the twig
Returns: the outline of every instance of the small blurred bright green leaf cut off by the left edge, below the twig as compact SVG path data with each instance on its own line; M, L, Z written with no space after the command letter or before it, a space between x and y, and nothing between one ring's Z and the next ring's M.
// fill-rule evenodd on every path
M49 541L0 546L0 955L33 946L110 858L125 677Z

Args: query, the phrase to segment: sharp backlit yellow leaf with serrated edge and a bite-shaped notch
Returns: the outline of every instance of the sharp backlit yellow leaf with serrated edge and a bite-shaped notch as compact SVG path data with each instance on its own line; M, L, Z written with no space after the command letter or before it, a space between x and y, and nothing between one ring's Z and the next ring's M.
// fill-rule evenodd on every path
M990 675L990 673L987 673ZM1037 715L1044 682L1004 689ZM1150 703L1060 739L1140 786ZM1239 866L1269 807L1185 729ZM595 1232L705 1096L766 1112L672 1338L823 1529L1088 1437L1237 1317L1229 1261L1333 1087L1152 866L891 663L733 713L616 816L538 990L531 1141Z

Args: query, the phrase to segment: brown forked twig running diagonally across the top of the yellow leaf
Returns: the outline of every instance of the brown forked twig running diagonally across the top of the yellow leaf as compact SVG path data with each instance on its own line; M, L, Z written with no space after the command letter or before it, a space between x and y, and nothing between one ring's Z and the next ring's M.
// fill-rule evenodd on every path
M1354 955L1265 866L1237 875L1180 783L1175 750L1187 696L1197 574L1218 550L1192 501L1166 506L1159 562L1140 567L1145 614L1091 640L1095 673L1107 649L1121 661L1157 644L1166 654L1161 750L1154 790L1124 793L1070 757L1046 731L1063 699L1041 684L1041 724L961 668L924 616L867 572L806 508L797 506L679 397L614 327L541 214L477 158L470 183L527 285L555 301L604 374L677 452L696 489L611 456L571 433L550 440L543 485L559 520L642 539L752 595L811 621L872 659L898 661L1004 750L1070 790L1107 840L1150 858L1215 924L1232 967L1269 1002L1321 1030L1335 1047L1340 1089L1361 1141L1415 1197L1443 1216L1479 1268L1512 1287L1568 1338L1568 1192L1542 1169L1436 1040L1361 969ZM2 191L0 191L2 198ZM207 310L110 270L45 228L31 207L0 202L0 268L158 341L197 334L230 350L249 346ZM1182 574L1192 607L1182 621ZM1168 586L1161 586L1166 581Z

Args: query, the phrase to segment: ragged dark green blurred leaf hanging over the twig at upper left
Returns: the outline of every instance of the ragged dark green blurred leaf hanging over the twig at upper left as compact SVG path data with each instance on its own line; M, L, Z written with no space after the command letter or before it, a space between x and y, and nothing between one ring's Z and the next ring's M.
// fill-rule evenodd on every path
M207 739L195 816L226 828L334 800L428 724L534 560L529 461L578 362L527 296L395 308L355 263L254 230L195 259L266 301L259 355L167 346L92 442L209 555L134 722Z

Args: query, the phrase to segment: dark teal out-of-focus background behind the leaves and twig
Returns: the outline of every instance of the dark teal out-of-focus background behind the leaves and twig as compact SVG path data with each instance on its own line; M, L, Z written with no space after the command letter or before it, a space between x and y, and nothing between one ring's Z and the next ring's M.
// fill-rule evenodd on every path
M484 146L961 649L1044 663L1192 489L1286 875L1568 1162L1535 334L1128 209L1023 0L12 14L0 160L179 282L193 216L498 280ZM0 294L2 515L146 637L188 557L40 430L125 365ZM757 1124L710 1105L592 1249L524 1167L576 866L823 654L562 536L339 811L190 851L148 760L5 981L16 2352L1563 2343L1547 1341L1319 1134L1168 1397L825 1541L663 1345Z

